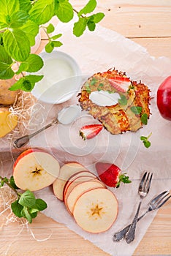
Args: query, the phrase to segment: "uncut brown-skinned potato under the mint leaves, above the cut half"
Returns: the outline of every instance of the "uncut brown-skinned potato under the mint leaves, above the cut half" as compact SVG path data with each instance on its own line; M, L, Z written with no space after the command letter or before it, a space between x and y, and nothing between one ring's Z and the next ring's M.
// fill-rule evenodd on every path
M0 104L12 105L18 97L18 91L9 91L9 87L16 83L15 78L0 80Z

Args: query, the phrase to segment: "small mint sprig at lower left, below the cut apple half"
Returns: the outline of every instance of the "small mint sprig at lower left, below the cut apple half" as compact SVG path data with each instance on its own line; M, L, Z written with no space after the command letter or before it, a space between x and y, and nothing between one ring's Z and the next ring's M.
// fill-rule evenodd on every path
M19 193L13 176L10 178L0 176L0 188L3 187L4 184L12 189L18 197L18 199L11 204L12 212L15 216L19 218L23 217L31 223L32 219L37 217L39 211L43 211L47 208L45 201L40 198L36 199L34 193L30 190Z

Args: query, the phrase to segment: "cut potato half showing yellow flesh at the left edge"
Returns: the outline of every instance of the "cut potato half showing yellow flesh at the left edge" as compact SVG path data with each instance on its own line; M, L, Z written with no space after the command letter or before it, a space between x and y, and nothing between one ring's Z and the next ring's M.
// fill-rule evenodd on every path
M0 108L0 138L7 135L18 124L18 117L9 112L9 108Z

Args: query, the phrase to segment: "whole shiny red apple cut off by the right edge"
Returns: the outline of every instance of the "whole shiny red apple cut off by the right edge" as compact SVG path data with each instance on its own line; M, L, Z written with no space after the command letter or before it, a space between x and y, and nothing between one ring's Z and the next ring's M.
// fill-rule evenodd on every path
M161 83L157 90L157 106L161 116L171 121L171 75Z

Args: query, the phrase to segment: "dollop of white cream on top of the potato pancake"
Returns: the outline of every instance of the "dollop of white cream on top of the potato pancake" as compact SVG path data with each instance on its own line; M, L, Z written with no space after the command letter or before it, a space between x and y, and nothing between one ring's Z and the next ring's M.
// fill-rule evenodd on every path
M117 92L110 94L108 91L92 91L89 99L94 104L105 107L117 104L118 99L121 99L121 97Z

